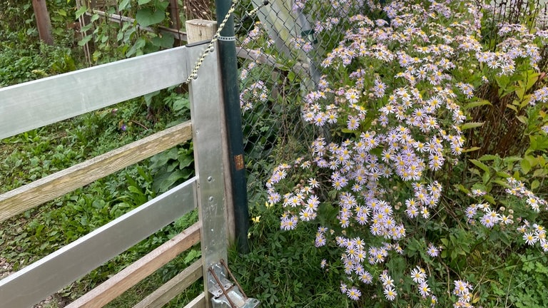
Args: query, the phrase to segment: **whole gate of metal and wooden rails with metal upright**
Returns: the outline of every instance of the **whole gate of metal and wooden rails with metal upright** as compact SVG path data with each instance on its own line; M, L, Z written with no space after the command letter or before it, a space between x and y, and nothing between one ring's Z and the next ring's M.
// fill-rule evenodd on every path
M0 139L186 81L204 45L183 46L0 89ZM24 308L111 260L198 207L199 221L68 307L103 307L181 252L201 242L202 257L136 307L161 307L226 259L228 240L223 110L215 50L189 85L191 121L0 195L0 221L39 206L179 143L193 140L196 176L0 280L0 306ZM226 186L230 187L230 185ZM208 284L187 307L208 307Z

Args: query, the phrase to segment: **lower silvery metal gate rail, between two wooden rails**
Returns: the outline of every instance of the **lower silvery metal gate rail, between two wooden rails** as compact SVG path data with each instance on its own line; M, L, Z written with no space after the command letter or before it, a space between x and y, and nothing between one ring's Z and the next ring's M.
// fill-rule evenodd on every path
M31 307L196 208L196 178L0 280L1 307Z

